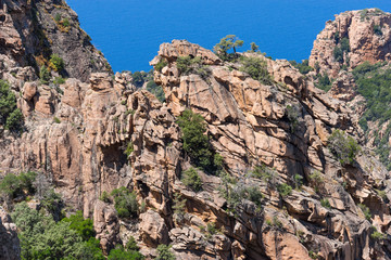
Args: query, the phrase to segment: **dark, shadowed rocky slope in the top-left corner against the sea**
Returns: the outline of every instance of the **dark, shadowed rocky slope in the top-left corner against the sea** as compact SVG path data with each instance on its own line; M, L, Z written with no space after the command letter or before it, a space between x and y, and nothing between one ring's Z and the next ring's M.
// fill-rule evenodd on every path
M93 72L111 72L64 1L2 0L0 26L0 54L13 60L13 67L50 66L50 55L58 54L64 60L65 77L86 81Z

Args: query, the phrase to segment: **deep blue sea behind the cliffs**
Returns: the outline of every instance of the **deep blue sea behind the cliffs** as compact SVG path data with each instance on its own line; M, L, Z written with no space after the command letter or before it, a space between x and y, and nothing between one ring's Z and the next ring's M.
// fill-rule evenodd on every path
M149 70L162 42L187 39L212 49L226 35L254 41L274 58L301 61L333 15L390 0L66 0L115 72Z

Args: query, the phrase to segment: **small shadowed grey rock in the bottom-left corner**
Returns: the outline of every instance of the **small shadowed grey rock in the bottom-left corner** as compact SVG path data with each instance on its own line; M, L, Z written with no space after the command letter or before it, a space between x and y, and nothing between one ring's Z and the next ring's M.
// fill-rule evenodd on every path
M20 240L17 238L16 225L12 223L11 217L0 207L0 259L21 259Z

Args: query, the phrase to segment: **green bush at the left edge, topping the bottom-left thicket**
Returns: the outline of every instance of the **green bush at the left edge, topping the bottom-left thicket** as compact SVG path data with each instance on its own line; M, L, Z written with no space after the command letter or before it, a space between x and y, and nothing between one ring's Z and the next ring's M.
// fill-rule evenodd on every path
M33 183L36 177L37 173L33 171L21 172L18 176L8 173L0 182L0 192L10 199L31 195L35 193Z

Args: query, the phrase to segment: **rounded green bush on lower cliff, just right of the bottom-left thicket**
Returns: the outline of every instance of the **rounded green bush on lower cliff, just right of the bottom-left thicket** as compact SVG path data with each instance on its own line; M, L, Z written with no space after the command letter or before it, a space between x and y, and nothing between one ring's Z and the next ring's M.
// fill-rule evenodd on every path
M139 205L135 192L130 192L122 186L113 190L111 195L114 197L114 207L119 218L127 219L138 217Z

